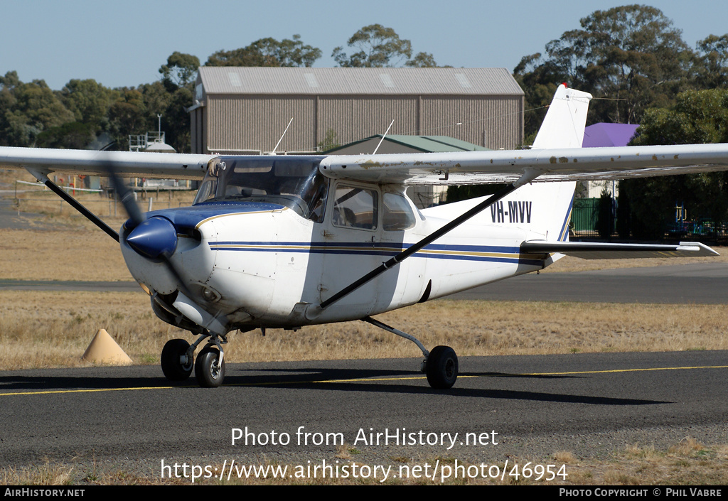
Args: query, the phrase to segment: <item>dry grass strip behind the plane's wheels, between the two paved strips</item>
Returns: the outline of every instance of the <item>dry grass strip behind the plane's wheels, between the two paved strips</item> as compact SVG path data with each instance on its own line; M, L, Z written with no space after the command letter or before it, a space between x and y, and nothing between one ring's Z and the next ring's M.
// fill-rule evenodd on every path
M426 346L447 344L462 356L728 349L722 305L440 300L379 318ZM80 357L100 328L138 364L159 363L168 339L191 339L158 320L141 290L0 291L0 370L84 366ZM229 339L229 362L419 356L414 344L363 322Z

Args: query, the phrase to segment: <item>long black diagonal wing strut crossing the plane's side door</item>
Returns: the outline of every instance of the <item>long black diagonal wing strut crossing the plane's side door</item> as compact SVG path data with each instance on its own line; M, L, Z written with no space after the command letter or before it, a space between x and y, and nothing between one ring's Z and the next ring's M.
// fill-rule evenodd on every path
M343 289L341 289L341 291L337 292L336 294L331 296L329 299L326 299L321 304L319 304L317 307L310 309L309 315L314 315L314 317L320 315L320 313L324 309L330 307L331 304L334 304L336 301L339 301L339 299L343 298L344 296L347 296L349 293L356 291L357 288L360 288L362 285L365 285L366 283L370 282L371 280L378 277L382 273L386 272L387 269L394 267L395 265L397 265L400 262L407 259L409 256L412 256L414 253L418 252L419 250L422 250L427 245L430 245L430 243L432 243L435 240L438 240L438 238L442 237L443 234L446 234L451 229L454 229L457 226L460 226L465 221L472 218L472 216L475 216L476 214L482 212L483 210L486 210L488 207L493 205L498 200L501 200L507 194L510 194L511 192L515 191L515 189L520 188L524 184L530 183L535 178L537 178L538 175L541 173L542 173L541 170L534 170L534 169L526 170L526 173L523 173L523 175L521 175L521 177L518 178L518 181L515 181L515 182L513 182L513 184L509 184L505 188L492 194L486 200L483 200L483 202L480 202L478 205L475 205L474 208L472 208L472 209L468 210L466 213L462 214L462 216L458 216L457 218L453 219L452 221L450 221L448 224L441 227L437 231L432 232L431 234L427 235L427 237L424 237L419 242L417 242L413 245L410 245L407 249L403 250L402 252L398 253L396 256L389 259L389 261L385 261L384 263L381 264L380 267L373 269L371 272L368 272L366 275L361 277L359 280L356 280L355 282L351 283L350 285L347 285L347 287L344 287Z

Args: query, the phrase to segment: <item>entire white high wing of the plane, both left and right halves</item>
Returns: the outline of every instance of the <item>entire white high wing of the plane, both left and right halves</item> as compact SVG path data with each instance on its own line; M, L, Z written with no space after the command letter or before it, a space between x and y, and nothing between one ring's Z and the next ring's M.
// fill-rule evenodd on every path
M202 179L215 155L0 147L0 167L144 178ZM534 181L592 181L728 170L728 144L333 155L331 178L384 184L499 184L531 171Z

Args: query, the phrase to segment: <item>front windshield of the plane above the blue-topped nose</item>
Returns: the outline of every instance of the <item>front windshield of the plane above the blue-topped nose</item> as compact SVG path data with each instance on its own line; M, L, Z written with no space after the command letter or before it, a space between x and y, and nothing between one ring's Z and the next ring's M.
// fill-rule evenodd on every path
M328 178L323 157L220 157L210 165L195 205L202 202L268 202L306 219L323 220Z

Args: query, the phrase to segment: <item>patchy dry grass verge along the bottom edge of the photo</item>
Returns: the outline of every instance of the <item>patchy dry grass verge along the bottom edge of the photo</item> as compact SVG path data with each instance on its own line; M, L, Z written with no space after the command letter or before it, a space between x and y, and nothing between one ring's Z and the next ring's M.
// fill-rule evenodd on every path
M333 451L331 457L325 458L329 464L339 466L357 464L373 464L357 460L355 455L341 450ZM454 466L456 457L393 457L389 462L392 472L398 472L400 467L412 468L417 465L429 463L434 465L439 460L440 465ZM526 465L556 465L560 470L562 465L566 468L566 480L561 477L553 481L536 480L535 478L518 478L505 476L505 481L495 478L450 478L443 484L465 485L574 485L574 486L719 486L728 483L728 446L705 446L697 443L695 439L686 437L667 449L656 449L652 445L633 444L617 451L607 459L574 457L569 451L559 451L552 457L529 458L510 457L510 465L518 463ZM464 470L473 463L462 462ZM262 467L287 467L288 472L300 467L297 464L283 464L266 460L260 463ZM379 464L381 466L381 464ZM504 463L496 463L503 468ZM387 466L387 465L384 465ZM221 464L212 464L212 468ZM305 468L305 467L304 467ZM351 471L351 470L349 470ZM475 470L472 470L475 471ZM273 478L269 475L261 478L233 478L231 481L219 481L215 478L198 478L196 484L233 484L233 485L288 485L288 484L371 484L378 485L380 478L340 478L340 479L309 479L295 480L291 478ZM28 468L0 468L0 484L4 485L151 485L151 484L190 484L184 478L159 478L159 476L144 476L111 466L100 466L95 462L60 463L45 461L41 465ZM387 484L440 484L440 478L435 481L425 478L390 478Z

